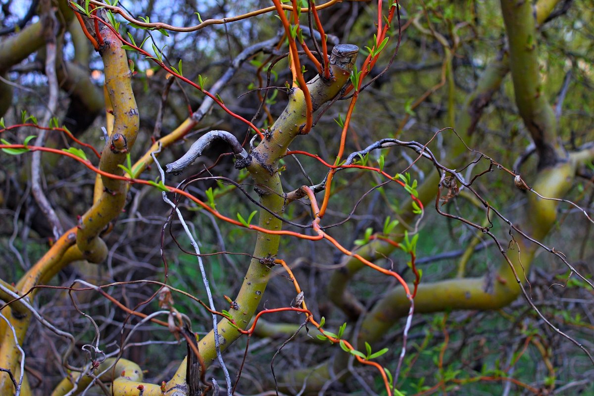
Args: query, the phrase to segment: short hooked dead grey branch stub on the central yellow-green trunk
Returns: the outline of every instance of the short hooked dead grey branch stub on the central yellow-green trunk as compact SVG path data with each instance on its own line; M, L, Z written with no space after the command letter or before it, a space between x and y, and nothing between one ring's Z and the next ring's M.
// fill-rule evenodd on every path
M251 163L252 157L243 147L241 147L241 143L239 143L235 136L227 131L210 131L195 141L187 153L185 153L179 160L167 164L165 166L165 172L179 175L179 173L182 173L184 169L194 163L194 161L202 155L204 150L206 150L206 148L216 139L222 139L228 142L231 146L231 150L233 151L233 154L235 154L236 169L245 168Z

